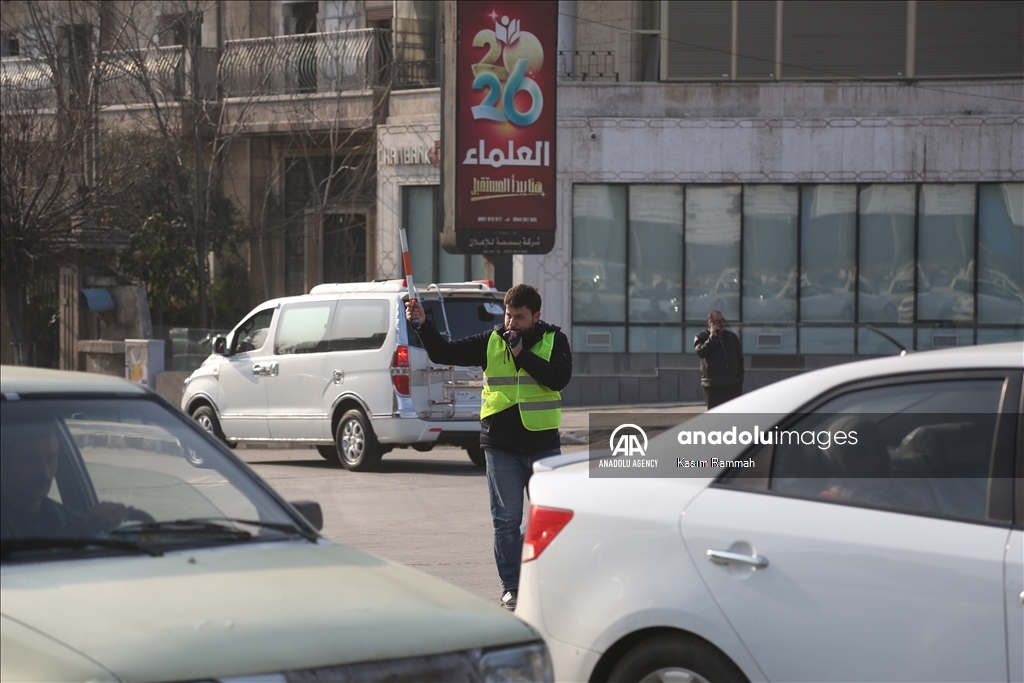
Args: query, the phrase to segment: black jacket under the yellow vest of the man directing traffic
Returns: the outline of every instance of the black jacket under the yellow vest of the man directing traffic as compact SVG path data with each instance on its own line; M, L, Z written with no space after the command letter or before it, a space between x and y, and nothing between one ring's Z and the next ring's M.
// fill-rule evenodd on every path
M534 326L534 333L522 340L523 351L532 347L544 336L545 332L555 333L554 348L551 349L551 360L545 360L535 353L520 352L513 358L517 370L525 370L538 382L561 391L572 377L572 352L569 350L569 340L554 325L544 321ZM447 341L437 332L437 328L428 319L417 330L423 348L431 360L452 366L475 366L486 369L487 342L490 332L484 332L471 337ZM512 351L508 351L511 355ZM529 431L522 426L519 417L519 407L496 413L480 420L480 445L499 449L506 453L531 455L543 451L559 447L557 429Z

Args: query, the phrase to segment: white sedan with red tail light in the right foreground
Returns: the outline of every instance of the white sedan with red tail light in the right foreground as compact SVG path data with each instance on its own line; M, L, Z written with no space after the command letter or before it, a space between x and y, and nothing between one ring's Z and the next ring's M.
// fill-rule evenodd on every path
M1022 368L837 366L542 461L516 614L558 681L1021 681Z

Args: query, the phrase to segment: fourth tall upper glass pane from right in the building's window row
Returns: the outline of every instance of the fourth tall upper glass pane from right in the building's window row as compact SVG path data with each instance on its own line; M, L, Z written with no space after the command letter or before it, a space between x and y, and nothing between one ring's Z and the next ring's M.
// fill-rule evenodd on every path
M804 187L802 201L800 318L853 322L857 187ZM852 353L852 333L847 336Z

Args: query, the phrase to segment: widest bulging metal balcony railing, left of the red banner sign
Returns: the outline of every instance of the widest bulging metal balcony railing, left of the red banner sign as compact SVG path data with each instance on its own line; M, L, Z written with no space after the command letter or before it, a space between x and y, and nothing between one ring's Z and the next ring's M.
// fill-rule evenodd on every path
M387 74L390 32L332 31L224 43L219 79L227 97L367 90Z

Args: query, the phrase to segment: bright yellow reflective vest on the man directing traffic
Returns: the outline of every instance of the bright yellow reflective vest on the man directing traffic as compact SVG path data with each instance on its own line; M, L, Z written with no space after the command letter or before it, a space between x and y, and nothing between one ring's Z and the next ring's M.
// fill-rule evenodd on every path
M554 346L555 333L549 331L523 352L551 360ZM562 423L562 394L544 386L525 370L517 371L508 344L497 331L487 340L487 368L483 371L480 398L480 419L518 404L522 426L529 431L558 429Z

